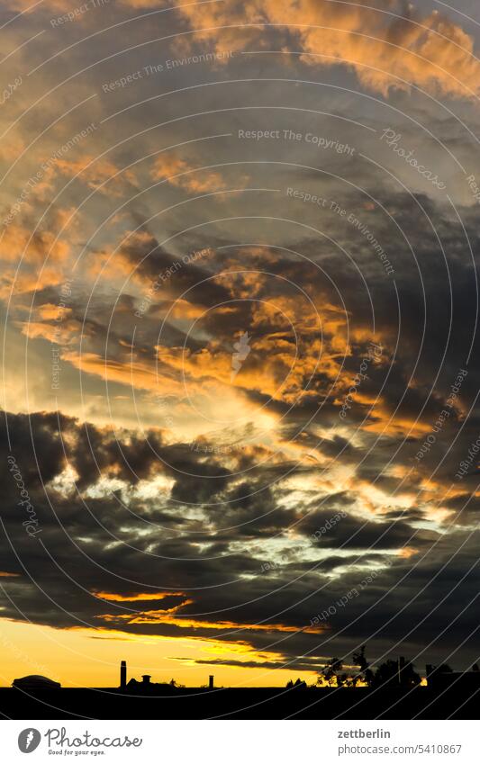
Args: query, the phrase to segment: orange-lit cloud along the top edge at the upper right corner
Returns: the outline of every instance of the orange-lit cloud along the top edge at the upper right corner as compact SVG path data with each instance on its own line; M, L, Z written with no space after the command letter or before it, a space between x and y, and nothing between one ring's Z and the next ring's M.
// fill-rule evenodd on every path
M138 0L135 0L138 4ZM473 38L437 11L423 15L410 4L360 0L338 4L327 0L225 0L219 4L186 4L178 9L195 29L195 40L209 40L215 49L243 49L252 37L265 43L265 29L242 24L267 22L288 31L312 66L343 65L355 71L362 85L387 94L394 86L418 85L430 93L455 97L478 94L480 63ZM382 13L382 11L390 13ZM395 16L396 14L396 16ZM234 29L219 27L238 24Z

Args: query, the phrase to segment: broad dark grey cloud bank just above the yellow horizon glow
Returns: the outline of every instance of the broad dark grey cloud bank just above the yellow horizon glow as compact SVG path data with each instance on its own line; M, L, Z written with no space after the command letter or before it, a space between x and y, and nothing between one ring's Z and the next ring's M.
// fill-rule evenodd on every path
M216 474L222 469L222 454L205 463L190 448L165 444L159 432L149 433L147 445L132 431L84 426L61 414L9 415L8 423L12 453L41 520L41 545L32 545L24 532L15 481L7 474L4 523L18 557L5 548L0 567L10 571L4 585L15 606L35 623L97 630L101 623L101 631L113 634L186 634L239 643L250 651L269 650L272 667L303 661L305 670L315 670L329 654L332 639L337 652L349 652L376 629L382 631L375 642L380 654L384 646L403 639L402 618L394 617L402 608L403 619L417 624L405 646L410 651L421 649L428 634L438 634L444 619L452 625L439 652L446 640L455 645L472 623L467 616L452 620L457 597L436 609L438 591L431 582L439 576L448 592L458 571L475 561L473 538L457 559L450 559L465 534L450 541L448 535L416 529L409 514L394 522L387 515L365 522L357 514L357 492L327 492L312 506L305 503L302 511L287 509L286 485L258 493L262 471L257 484L230 476L223 482L223 507L205 511L200 503L189 514L186 507L170 504L168 493L160 499L142 491L158 475L175 477L177 470L186 497L195 495L202 502L211 494L199 492L200 474L208 484L213 467ZM3 453L5 461L5 441ZM66 478L67 465L76 476L78 494ZM198 485L193 479L188 484L187 473L195 471ZM101 495L102 481L108 480L123 483L124 490ZM339 508L346 517L312 544L311 535ZM296 547L289 546L292 531ZM274 538L276 545L269 546ZM308 549L316 550L310 561L304 557ZM78 554L85 564L78 565ZM441 572L444 563L447 570ZM369 571L377 571L375 580L351 599L349 608L337 607L327 623L312 627L314 616L359 587ZM222 587L222 581L229 586ZM474 593L474 581L467 581L462 601ZM424 585L428 594L417 598ZM161 607L145 607L156 601ZM105 602L115 609L105 611ZM429 625L421 625L429 610ZM5 614L18 616L10 605ZM274 648L276 634L284 639ZM301 659L305 651L309 657ZM245 660L254 665L258 658L247 651Z

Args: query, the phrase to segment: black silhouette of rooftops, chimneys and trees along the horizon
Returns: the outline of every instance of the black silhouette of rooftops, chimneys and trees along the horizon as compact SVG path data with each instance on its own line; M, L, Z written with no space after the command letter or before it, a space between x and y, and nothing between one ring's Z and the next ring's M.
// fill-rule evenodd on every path
M454 671L427 664L426 677L403 656L370 667L365 647L354 654L356 670L338 658L326 661L316 684L291 679L284 688L217 688L210 675L204 687L186 688L175 679L152 681L150 674L128 678L121 661L119 685L61 688L41 676L14 679L0 688L0 714L9 718L471 718L477 713L480 670ZM206 678L205 678L206 679Z

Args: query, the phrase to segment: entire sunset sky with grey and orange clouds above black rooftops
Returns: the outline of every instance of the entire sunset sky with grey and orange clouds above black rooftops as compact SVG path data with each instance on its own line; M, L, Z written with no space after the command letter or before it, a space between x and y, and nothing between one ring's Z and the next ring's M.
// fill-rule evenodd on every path
M1 684L477 659L476 5L3 0Z

